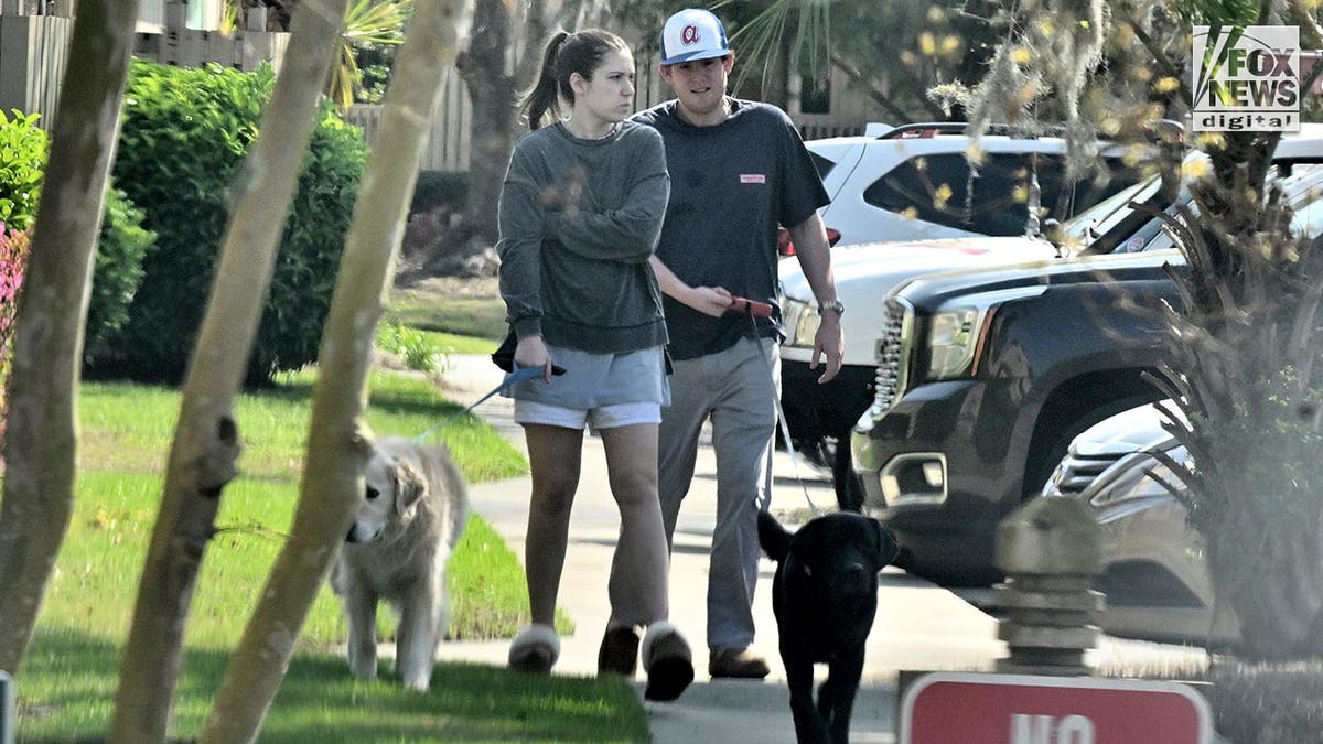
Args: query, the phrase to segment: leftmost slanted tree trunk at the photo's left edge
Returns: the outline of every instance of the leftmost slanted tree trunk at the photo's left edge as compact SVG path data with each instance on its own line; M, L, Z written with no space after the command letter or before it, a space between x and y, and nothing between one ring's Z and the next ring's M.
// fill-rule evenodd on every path
M83 324L136 11L132 0L79 8L20 297L0 503L0 670L11 674L73 510Z

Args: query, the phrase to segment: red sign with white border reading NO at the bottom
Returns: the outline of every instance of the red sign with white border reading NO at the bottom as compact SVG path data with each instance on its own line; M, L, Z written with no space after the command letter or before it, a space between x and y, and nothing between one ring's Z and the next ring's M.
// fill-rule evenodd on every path
M901 700L898 744L1211 744L1208 702L1185 684L933 673Z

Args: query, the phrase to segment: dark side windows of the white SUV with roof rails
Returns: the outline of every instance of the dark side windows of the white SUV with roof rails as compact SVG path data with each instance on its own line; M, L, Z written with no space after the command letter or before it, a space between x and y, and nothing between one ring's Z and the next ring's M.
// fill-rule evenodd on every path
M986 156L971 177L962 152L912 158L864 191L864 201L914 218L988 236L1024 234L1031 154ZM1082 180L1066 188L1061 155L1036 154L1040 204L1069 216L1134 183L1119 172L1105 183ZM1114 164L1119 171L1119 164ZM971 197L972 189L972 197Z

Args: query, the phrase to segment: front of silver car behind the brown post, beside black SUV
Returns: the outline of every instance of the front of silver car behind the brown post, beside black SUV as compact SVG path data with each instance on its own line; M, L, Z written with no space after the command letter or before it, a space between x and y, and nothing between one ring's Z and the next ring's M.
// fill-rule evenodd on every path
M1203 537L1172 495L1180 479L1151 453L1188 462L1185 447L1163 429L1154 405L1118 413L1086 429L1043 490L1080 499L1102 527L1103 571L1095 588L1107 594L1103 630L1152 641L1233 645L1240 624L1218 605Z

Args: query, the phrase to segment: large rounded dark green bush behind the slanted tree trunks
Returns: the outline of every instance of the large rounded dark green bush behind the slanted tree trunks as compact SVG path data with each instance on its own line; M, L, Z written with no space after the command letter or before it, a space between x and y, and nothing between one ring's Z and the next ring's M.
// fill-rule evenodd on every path
M130 320L106 344L114 353L98 359L102 369L138 380L183 377L210 294L233 184L274 82L266 66L239 73L134 62L114 175L146 207L143 226L159 238ZM365 160L361 131L327 103L282 237L249 383L316 359Z

